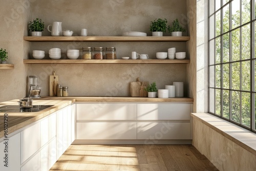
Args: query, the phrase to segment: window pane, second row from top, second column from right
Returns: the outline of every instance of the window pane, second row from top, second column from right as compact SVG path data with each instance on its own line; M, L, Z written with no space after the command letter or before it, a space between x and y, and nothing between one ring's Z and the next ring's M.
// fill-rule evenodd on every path
M251 41L251 34L250 34L250 25L245 25L242 27L242 60L250 59L250 41Z

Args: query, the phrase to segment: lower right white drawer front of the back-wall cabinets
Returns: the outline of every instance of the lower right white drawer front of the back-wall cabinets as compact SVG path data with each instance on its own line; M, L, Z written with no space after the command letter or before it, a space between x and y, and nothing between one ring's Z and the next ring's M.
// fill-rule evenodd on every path
M138 139L157 140L189 140L189 122L138 122Z

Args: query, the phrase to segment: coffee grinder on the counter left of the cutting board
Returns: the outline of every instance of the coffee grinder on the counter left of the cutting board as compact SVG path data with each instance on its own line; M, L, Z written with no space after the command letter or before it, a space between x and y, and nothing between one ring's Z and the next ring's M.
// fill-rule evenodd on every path
M40 98L41 89L38 88L38 77L29 76L29 97L30 98Z

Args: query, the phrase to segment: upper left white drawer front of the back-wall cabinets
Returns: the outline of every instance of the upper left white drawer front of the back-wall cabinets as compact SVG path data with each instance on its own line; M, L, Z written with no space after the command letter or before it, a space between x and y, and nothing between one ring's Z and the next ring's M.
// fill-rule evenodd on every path
M77 120L136 120L137 104L77 104Z

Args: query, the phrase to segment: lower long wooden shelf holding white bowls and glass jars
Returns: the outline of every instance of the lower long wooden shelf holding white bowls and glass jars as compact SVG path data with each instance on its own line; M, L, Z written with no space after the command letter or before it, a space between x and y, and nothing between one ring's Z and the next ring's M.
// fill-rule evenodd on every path
M82 63L190 63L189 59L24 59L24 63L60 63L60 64L82 64Z

